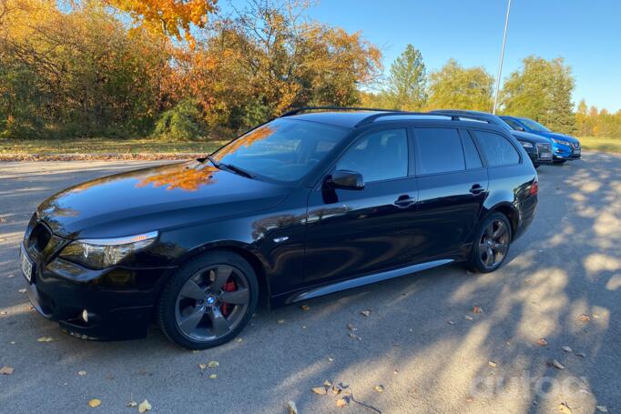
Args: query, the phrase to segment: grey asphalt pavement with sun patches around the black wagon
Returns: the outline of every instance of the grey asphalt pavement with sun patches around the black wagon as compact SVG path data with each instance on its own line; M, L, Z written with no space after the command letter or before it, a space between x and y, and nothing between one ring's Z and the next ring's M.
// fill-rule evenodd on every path
M15 369L0 375L3 414L127 413L132 399L153 413L284 413L289 400L300 413L376 412L311 392L326 379L382 413L621 412L621 157L539 168L534 225L494 274L450 266L312 299L308 310L260 309L240 341L202 352L157 328L135 341L71 338L19 292L17 246L37 204L142 165L0 163L0 369ZM211 360L219 367L199 369Z

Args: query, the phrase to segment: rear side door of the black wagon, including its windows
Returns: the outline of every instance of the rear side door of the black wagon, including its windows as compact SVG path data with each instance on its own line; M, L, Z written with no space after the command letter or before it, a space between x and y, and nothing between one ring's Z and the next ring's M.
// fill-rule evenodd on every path
M481 213L488 173L466 130L417 127L413 130L418 202L412 248L418 261L459 251Z

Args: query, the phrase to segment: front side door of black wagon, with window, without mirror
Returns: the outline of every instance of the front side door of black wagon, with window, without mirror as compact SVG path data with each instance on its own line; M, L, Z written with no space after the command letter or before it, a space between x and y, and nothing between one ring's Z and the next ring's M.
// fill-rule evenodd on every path
M361 190L311 191L306 283L322 283L399 267L411 260L410 222L418 197L411 140L402 128L375 129L356 139L333 170L361 173Z

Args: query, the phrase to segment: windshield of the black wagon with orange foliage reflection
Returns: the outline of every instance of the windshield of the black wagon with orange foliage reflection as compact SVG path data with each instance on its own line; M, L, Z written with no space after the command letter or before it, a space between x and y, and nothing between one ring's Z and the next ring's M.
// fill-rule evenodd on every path
M340 126L279 118L231 141L210 159L236 173L294 182L306 176L348 133Z

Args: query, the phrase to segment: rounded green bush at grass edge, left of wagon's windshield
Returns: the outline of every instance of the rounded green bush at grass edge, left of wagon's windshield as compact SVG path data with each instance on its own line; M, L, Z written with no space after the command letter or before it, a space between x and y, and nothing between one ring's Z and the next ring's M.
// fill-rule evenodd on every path
M184 99L162 113L153 135L175 141L200 139L207 135L207 125L202 120L197 103Z

